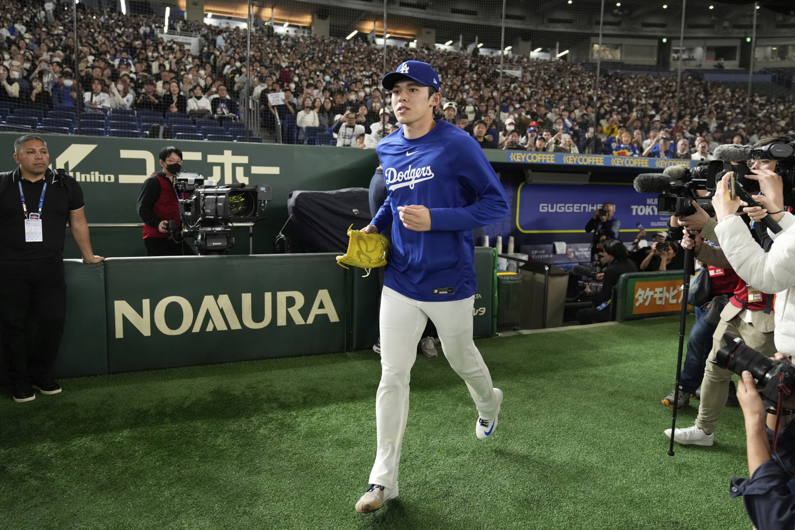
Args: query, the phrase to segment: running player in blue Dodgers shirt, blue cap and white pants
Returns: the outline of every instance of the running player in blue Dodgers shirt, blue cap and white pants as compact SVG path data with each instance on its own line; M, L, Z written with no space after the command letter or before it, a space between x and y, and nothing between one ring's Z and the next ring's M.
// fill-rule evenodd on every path
M502 392L472 341L475 244L471 230L510 211L494 169L474 138L433 121L441 102L439 75L409 60L382 79L402 127L377 148L386 202L363 231L392 223L392 248L381 298L381 383L375 397L378 451L370 487L356 503L374 512L397 497L397 466L409 416L409 378L417 342L430 318L445 357L467 383L479 439L494 435Z

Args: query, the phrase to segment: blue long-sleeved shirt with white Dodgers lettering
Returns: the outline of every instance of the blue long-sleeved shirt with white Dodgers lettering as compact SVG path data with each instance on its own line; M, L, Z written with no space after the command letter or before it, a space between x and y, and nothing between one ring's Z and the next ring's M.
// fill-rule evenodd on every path
M370 224L382 231L392 223L392 246L384 285L413 300L443 302L475 294L472 231L510 212L497 174L475 138L444 121L409 140L402 128L376 148L388 191ZM431 211L431 230L403 226L399 206Z

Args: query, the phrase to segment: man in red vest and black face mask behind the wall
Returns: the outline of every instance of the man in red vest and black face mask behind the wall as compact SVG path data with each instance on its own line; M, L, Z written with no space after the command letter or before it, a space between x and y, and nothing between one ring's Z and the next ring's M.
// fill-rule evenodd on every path
M149 256L192 256L187 242L176 242L169 221L180 227L180 203L174 189L176 174L182 170L182 151L164 147L160 151L161 171L144 180L138 193L138 215L144 222L143 239Z

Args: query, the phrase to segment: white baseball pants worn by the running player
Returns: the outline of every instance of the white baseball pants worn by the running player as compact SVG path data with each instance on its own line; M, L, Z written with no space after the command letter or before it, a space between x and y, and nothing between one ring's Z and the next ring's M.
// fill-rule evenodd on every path
M375 395L378 451L370 472L370 484L397 487L397 466L409 418L409 379L417 358L425 324L430 318L439 333L444 356L467 383L475 407L483 418L499 411L491 375L472 340L472 308L475 296L466 300L420 302L388 287L381 295L381 384ZM474 423L474 422L473 422ZM474 429L473 429L474 431ZM472 436L475 434L473 432Z

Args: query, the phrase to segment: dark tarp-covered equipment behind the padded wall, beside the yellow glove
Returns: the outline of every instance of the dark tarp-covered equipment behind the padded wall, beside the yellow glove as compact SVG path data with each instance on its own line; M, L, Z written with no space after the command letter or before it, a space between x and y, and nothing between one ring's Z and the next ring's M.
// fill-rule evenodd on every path
M367 188L290 193L287 211L304 250L345 253L348 227L361 230L372 220L368 194Z

